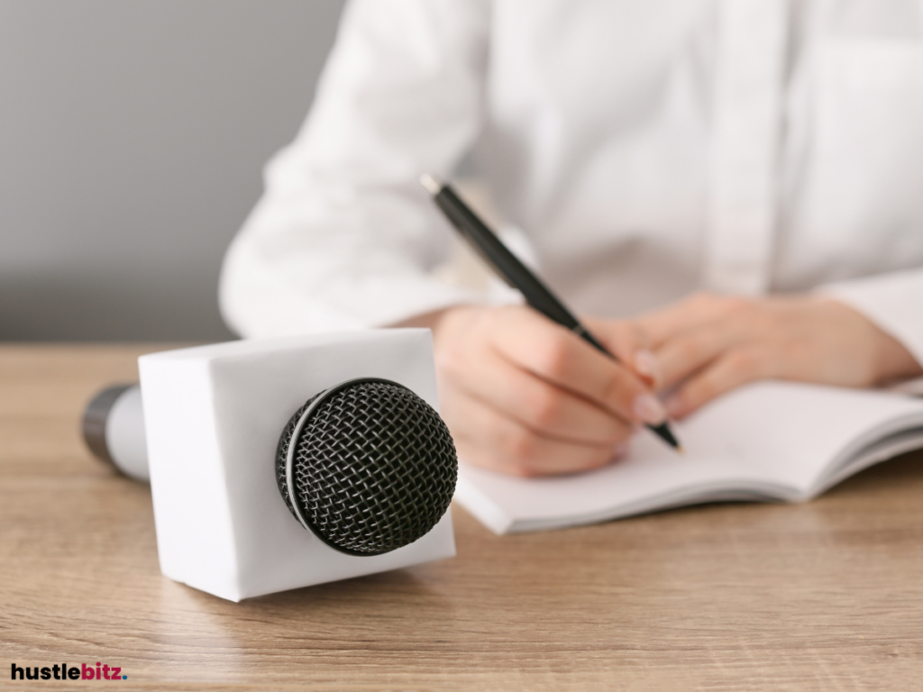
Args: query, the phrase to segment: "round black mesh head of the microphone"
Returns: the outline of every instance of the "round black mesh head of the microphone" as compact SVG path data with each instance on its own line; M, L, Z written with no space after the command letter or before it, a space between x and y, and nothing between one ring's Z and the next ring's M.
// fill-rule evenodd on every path
M348 555L414 543L449 508L449 428L413 391L362 378L307 400L282 430L276 481L295 518Z

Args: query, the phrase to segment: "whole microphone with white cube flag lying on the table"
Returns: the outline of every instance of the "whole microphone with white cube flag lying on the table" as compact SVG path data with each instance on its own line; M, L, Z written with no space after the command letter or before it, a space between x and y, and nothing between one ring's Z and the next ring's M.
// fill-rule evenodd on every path
M428 330L148 353L138 376L90 401L83 433L150 479L165 577L241 601L455 555Z

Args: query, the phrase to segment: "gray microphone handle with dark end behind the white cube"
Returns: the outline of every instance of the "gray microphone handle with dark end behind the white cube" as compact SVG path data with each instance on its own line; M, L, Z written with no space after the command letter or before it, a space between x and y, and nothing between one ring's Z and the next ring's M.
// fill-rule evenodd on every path
M103 389L83 413L83 439L93 454L136 481L150 482L148 442L138 385Z

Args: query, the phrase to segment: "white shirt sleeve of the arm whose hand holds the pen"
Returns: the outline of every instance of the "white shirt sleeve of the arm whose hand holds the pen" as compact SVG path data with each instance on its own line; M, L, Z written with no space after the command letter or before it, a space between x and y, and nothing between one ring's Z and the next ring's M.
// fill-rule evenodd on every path
M353 0L312 112L265 172L220 302L245 337L387 325L484 296L433 273L450 231L419 185L481 127L486 0Z

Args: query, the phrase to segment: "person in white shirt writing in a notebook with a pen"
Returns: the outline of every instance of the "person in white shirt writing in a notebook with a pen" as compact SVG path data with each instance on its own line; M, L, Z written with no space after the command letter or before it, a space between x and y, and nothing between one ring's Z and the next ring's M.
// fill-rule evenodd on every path
M620 363L450 280L417 181L465 157ZM920 375L923 5L354 0L220 293L246 337L433 328L460 456L521 475L755 379Z

